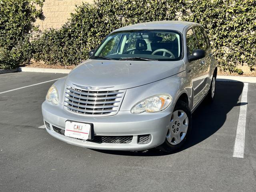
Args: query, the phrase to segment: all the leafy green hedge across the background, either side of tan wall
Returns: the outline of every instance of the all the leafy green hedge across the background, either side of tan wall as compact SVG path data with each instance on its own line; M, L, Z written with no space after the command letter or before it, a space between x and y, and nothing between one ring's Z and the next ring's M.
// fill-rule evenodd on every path
M62 28L44 31L31 46L27 36L40 11L28 1L0 3L0 52L5 54L0 68L17 66L31 56L48 64L78 64L116 28L157 20L202 24L222 70L241 74L238 65L254 68L256 63L256 0L96 0L93 5L83 3ZM42 1L35 3L42 6Z

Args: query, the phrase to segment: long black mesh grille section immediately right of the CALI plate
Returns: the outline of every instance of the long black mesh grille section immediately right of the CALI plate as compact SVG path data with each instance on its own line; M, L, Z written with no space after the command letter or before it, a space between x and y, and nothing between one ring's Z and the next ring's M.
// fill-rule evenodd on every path
M90 142L95 143L130 143L132 136L94 136Z

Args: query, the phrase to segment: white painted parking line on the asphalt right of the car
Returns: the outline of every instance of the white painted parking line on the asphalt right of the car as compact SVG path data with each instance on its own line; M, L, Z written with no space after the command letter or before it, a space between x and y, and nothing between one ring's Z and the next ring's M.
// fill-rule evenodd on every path
M244 158L244 138L245 138L245 127L246 127L246 112L247 112L247 92L248 83L244 83L244 88L241 98L241 106L238 117L238 124L236 128L236 140L234 145L233 157Z

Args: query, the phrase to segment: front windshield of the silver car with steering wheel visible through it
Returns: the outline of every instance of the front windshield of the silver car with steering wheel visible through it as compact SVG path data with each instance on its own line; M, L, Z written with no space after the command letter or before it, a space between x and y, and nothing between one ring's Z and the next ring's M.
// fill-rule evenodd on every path
M176 31L140 30L110 34L91 59L180 60L181 35Z

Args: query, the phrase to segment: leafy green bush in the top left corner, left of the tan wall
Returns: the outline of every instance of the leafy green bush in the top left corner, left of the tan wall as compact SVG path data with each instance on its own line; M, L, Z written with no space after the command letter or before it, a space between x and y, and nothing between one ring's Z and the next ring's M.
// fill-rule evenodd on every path
M0 1L0 69L12 69L32 57L29 41L36 29L33 22L42 15L35 4L42 7L44 0Z

